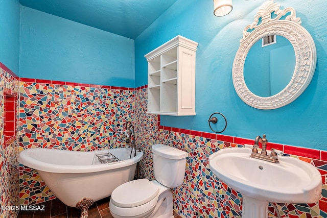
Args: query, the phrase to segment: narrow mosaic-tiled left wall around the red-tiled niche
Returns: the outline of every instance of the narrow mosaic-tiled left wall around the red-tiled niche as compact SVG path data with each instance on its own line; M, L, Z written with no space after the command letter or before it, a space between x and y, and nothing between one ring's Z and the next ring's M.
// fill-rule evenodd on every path
M19 181L18 181L18 122L15 124L14 137L10 142L5 141L4 136L4 104L5 91L11 95L17 95L19 81L17 76L6 66L0 63L0 205L16 206L19 204ZM16 98L18 101L18 98ZM15 119L18 119L18 104ZM18 211L0 210L0 217L16 217Z

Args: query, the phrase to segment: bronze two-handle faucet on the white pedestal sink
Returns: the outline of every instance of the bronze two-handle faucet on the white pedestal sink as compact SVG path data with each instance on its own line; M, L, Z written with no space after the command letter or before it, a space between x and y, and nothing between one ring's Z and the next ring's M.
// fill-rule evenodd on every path
M259 148L259 142L262 144L262 150L261 154L258 153L258 148ZM254 139L254 144L252 148L252 153L250 157L260 159L260 160L266 160L272 163L279 163L277 153L274 151L274 149L271 149L271 154L270 156L267 155L267 142L268 140L266 139L266 135L263 134L263 136L256 136Z

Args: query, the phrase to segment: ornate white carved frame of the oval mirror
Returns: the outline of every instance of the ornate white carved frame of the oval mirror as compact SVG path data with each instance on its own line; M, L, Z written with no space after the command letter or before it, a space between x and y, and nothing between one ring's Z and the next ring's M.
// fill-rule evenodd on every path
M272 13L275 17L272 18ZM284 18L284 19L281 19ZM252 30L249 32L248 30ZM268 35L281 35L287 38L295 52L295 69L289 84L279 93L262 97L253 94L244 80L244 63L252 45ZM290 104L308 87L316 68L316 46L310 33L301 26L291 7L281 10L273 1L265 2L254 16L254 22L245 27L240 47L232 66L234 88L243 102L258 109L276 109ZM256 78L258 85L260 78Z

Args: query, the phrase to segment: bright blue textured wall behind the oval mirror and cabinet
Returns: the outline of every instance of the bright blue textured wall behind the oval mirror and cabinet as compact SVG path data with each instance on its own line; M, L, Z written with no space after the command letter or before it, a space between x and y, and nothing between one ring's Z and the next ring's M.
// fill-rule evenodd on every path
M233 1L233 11L213 15L212 0L179 0L135 39L135 86L147 84L144 55L176 35L199 43L196 66L196 116L161 116L161 124L211 132L207 119L214 112L227 118L225 135L254 139L266 134L275 143L327 150L327 8L325 0L276 1L293 7L312 35L317 67L309 87L291 104L274 110L246 105L232 84L233 59L246 25L262 1ZM260 84L259 84L260 85ZM220 117L218 117L220 118ZM217 130L222 129L217 125Z

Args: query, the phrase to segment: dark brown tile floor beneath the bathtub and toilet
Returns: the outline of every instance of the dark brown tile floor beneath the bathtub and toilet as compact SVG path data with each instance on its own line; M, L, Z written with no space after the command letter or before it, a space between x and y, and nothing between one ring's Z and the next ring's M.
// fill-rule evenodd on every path
M88 208L89 218L112 218L109 209L110 197L95 202ZM81 210L64 205L59 199L43 202L44 211L19 211L18 218L79 218ZM174 216L181 218L175 211Z

